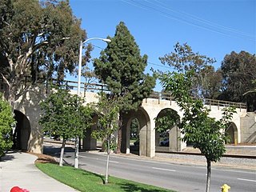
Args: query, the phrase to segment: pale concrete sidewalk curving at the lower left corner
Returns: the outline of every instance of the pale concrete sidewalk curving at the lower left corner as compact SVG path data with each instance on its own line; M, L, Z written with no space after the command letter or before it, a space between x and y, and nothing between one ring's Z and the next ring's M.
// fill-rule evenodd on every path
M42 173L34 165L33 154L9 152L0 162L0 191L9 192L13 186L34 191L78 191Z

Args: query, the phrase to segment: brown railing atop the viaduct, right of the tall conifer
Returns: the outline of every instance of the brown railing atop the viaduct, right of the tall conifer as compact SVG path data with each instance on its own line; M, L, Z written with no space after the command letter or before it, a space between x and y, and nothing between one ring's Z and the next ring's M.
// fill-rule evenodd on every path
M160 103L161 100L168 100L168 101L174 101L175 99L171 96L170 93L164 93L164 92L153 92L150 94L148 98L156 98L158 99L158 103ZM195 98L198 99L198 98ZM222 100L217 100L217 99L210 99L210 98L199 98L202 100L204 105L208 106L234 106L235 108L239 108L240 110L242 109L247 109L247 104L246 102L227 102L227 101L222 101ZM171 102L170 102L171 103Z

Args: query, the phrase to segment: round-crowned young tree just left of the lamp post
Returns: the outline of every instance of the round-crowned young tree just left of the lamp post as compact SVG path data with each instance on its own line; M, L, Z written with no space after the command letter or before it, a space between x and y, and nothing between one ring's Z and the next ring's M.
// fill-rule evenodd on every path
M82 104L81 98L61 87L57 87L45 101L40 102L43 114L39 123L43 130L63 138L59 166L63 163L66 140L82 137L86 128L92 125L92 110Z

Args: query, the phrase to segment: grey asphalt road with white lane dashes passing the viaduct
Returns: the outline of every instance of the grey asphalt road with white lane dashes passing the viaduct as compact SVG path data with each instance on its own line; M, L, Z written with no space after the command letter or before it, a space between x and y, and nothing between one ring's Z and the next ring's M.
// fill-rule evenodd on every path
M58 157L59 148L45 147L45 154ZM64 160L74 164L74 149L67 148ZM79 167L98 174L105 174L106 154L79 152ZM178 165L171 162L110 156L109 174L153 186L161 186L177 191L205 191L206 166ZM210 191L219 192L227 183L231 192L250 192L256 190L255 170L237 170L223 167L212 168Z

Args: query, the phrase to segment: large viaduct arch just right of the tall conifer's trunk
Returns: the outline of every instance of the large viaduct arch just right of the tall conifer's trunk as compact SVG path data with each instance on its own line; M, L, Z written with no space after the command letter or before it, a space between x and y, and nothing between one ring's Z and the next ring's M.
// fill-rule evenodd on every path
M123 116L121 151L122 153L130 154L130 124L134 118L137 118L139 123L138 154L150 157L150 117L142 107L139 107L135 112L130 112Z

